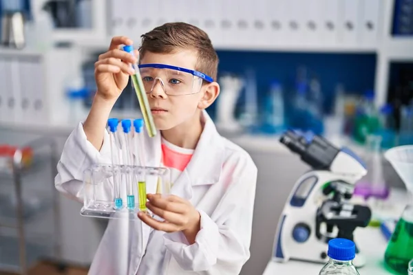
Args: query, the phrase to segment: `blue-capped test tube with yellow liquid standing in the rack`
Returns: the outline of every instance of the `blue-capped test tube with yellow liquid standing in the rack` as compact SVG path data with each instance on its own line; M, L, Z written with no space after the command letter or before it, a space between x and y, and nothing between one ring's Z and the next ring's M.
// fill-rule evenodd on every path
M145 150L143 147L143 120L137 119L134 120L134 150L136 159L138 160L138 165L145 167ZM145 181L145 170L138 170L136 173L136 181L138 181L138 195L139 195L139 210L146 211L146 201L147 201L147 192L146 192L146 181Z

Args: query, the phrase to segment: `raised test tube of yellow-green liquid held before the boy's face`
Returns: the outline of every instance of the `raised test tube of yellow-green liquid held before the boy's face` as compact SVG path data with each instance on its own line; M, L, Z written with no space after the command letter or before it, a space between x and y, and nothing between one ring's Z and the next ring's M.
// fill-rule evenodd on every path
M125 52L129 52L129 54L134 54L134 47L131 45L125 45L123 50ZM145 121L149 137L154 137L156 135L156 126L153 122L151 109L149 108L149 102L145 93L145 87L143 86L142 77L140 76L138 63L132 64L132 68L135 70L135 74L131 76L132 85L134 86L136 96L138 96L140 111L142 111L143 120Z

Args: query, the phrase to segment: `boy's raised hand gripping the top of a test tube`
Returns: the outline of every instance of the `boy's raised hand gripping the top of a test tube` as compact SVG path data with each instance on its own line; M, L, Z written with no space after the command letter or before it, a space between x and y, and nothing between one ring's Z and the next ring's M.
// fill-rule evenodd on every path
M116 101L125 89L129 76L134 74L130 64L136 63L138 50L133 56L120 49L120 45L132 45L133 41L125 36L116 36L112 39L109 50L100 54L95 63L95 80L98 88L96 96L105 100Z

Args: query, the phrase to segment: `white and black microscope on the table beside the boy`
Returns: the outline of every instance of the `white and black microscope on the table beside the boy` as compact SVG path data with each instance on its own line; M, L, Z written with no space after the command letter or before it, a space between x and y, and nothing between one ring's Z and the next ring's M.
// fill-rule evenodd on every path
M370 208L350 203L354 184L366 175L366 166L348 148L336 148L319 135L286 131L280 142L312 169L299 177L286 201L273 260L326 263L330 239L354 241L354 230L370 222ZM366 259L354 243L353 263L362 267Z

